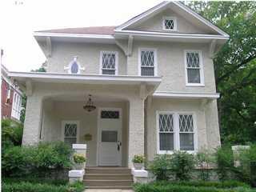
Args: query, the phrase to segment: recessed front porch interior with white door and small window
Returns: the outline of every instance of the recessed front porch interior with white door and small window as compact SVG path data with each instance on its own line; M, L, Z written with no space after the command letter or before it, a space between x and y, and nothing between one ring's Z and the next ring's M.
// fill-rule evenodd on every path
M44 99L39 139L86 144L86 166L128 166L130 102L93 94L96 110L88 112L87 99L87 94Z

